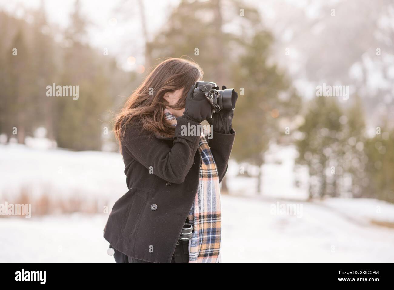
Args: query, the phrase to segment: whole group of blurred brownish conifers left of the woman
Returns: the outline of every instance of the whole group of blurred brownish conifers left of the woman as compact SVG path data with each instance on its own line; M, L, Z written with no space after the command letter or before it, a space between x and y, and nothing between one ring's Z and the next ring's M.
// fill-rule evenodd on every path
M101 114L117 108L123 100L119 96L123 89L119 88L135 76L119 69L113 57L87 44L89 22L80 13L79 1L64 35L48 25L44 2L39 9L25 13L33 16L33 22L0 11L0 133L9 139L17 127L15 137L23 142L35 128L44 126L47 137L56 139L60 147L100 150L103 139L111 142L103 128L111 133L108 123L113 117ZM64 36L61 43L54 41L54 32ZM47 97L46 86L53 83L79 86L80 98Z

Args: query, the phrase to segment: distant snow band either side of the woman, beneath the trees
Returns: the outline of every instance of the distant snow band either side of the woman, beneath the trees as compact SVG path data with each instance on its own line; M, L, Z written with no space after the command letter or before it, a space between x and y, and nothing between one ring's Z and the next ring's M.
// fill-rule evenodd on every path
M266 157L272 162L263 166L261 190L264 196L307 199L305 183L301 188L294 187L295 149L274 147L272 151ZM281 164L275 164L277 160ZM240 168L241 165L230 160L226 176L231 193L256 195L257 179L242 177ZM0 196L13 197L21 187L28 186L37 195L49 189L59 197L78 194L87 199L110 198L116 201L127 191L124 169L119 153L44 150L19 144L0 144L0 175L3 177L0 179ZM297 174L306 180L305 172Z

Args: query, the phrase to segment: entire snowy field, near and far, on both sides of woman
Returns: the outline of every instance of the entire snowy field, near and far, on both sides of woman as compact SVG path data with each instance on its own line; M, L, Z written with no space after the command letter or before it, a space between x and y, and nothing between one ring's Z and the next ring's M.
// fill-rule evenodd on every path
M294 187L294 150L282 150L281 164L264 165L263 194L255 178L236 177L231 163L222 195L223 262L394 262L394 205L374 199L307 202ZM38 150L0 145L0 203L20 186L44 185L53 195L79 194L116 201L126 191L119 154ZM243 193L245 197L235 196ZM1 201L2 200L2 201ZM282 212L294 205L295 212ZM0 262L114 262L102 231L108 214L59 214L0 218Z

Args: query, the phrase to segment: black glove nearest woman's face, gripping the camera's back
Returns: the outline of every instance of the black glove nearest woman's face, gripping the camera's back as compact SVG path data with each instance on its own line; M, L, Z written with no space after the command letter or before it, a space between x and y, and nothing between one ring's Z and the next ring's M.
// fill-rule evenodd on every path
M182 117L201 123L203 120L211 117L213 110L203 91L195 86L191 86L186 96L185 111Z

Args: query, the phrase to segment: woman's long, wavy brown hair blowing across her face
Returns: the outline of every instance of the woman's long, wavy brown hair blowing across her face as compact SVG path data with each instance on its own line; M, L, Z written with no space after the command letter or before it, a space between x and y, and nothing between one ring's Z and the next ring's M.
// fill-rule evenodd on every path
M173 136L175 128L164 120L165 106L180 110L185 107L186 94L190 87L203 78L203 70L192 61L169 58L160 63L126 100L125 106L115 117L116 139L121 143L124 127L138 122L144 129L163 136ZM169 91L183 89L177 104L170 106L163 98Z

